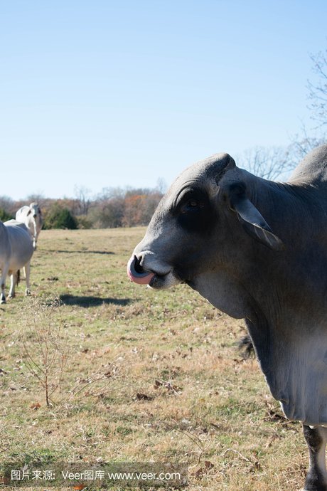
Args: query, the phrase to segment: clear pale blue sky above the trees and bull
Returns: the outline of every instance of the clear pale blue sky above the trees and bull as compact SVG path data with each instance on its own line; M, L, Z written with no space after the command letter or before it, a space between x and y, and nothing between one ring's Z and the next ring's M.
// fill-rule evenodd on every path
M308 126L327 2L0 3L0 195L169 184Z

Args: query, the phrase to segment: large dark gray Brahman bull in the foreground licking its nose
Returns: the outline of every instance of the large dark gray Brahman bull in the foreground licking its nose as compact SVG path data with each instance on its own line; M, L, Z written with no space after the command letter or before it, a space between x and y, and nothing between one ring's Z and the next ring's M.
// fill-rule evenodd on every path
M245 318L259 364L287 418L303 423L305 490L326 491L327 145L286 184L228 154L183 171L127 267L135 283L187 283Z

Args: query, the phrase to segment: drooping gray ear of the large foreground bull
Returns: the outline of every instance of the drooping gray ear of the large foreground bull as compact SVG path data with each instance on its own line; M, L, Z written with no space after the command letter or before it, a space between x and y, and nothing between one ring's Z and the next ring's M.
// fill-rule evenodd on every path
M230 206L236 211L237 217L245 231L256 241L267 245L272 250L283 250L284 244L277 237L259 210L245 194L245 184L232 184L229 188Z

